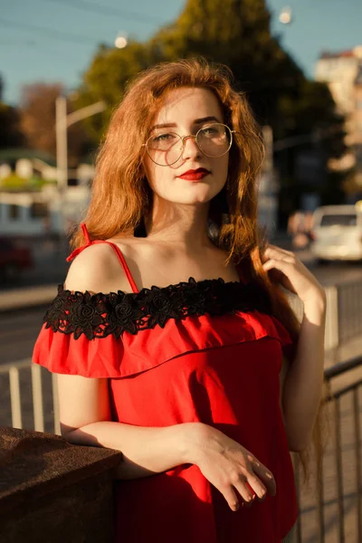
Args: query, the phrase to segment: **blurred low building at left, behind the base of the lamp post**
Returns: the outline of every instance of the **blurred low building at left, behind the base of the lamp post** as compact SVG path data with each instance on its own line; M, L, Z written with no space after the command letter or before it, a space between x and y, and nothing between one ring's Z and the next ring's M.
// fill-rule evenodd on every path
M59 235L78 223L89 204L94 167L80 164L68 176L61 192L51 158L29 149L0 151L0 234Z

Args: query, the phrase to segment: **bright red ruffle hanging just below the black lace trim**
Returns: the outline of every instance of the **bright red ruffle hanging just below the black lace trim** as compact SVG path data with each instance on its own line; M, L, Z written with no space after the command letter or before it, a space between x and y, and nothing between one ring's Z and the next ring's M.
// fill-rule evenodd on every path
M289 332L273 316L257 310L222 316L169 319L164 328L143 329L122 337L87 338L53 331L43 325L33 350L33 362L51 372L94 378L124 378L149 371L193 351L273 338L291 356ZM252 362L252 361L251 361Z

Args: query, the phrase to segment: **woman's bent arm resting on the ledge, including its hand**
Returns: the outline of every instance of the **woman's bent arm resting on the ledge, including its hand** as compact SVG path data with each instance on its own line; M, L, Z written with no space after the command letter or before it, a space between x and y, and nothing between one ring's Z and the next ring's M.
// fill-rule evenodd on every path
M219 430L203 423L146 427L113 422L108 379L58 374L57 380L62 436L69 443L122 452L118 479L148 477L192 463L222 492L232 510L239 507L236 491L246 503L252 502L254 493L260 500L267 491L275 494L271 472Z

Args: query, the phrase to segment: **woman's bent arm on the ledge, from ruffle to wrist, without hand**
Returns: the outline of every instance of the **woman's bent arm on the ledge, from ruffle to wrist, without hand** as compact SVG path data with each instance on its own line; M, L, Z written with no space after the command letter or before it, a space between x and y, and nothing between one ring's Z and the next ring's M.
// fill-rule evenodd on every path
M57 375L62 436L69 443L122 452L119 479L147 477L185 463L188 424L154 428L113 422L107 381Z

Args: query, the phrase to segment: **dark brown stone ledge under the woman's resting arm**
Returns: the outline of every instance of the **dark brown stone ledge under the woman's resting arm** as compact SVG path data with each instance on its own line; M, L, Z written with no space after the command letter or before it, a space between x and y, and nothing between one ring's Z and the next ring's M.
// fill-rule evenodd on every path
M112 543L121 453L0 428L0 541Z

